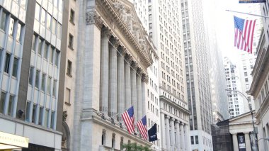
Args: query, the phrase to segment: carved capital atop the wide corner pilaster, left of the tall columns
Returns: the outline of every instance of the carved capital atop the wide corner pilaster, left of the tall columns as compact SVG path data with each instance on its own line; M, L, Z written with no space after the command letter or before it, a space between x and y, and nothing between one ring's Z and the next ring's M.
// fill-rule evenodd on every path
M99 30L101 30L103 26L103 20L101 16L99 16L96 11L86 12L86 25L95 24Z

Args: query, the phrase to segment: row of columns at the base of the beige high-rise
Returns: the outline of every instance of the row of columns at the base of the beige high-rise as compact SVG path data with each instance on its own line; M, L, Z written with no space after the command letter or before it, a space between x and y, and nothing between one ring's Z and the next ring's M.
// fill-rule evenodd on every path
M188 125L165 116L166 150L188 150Z

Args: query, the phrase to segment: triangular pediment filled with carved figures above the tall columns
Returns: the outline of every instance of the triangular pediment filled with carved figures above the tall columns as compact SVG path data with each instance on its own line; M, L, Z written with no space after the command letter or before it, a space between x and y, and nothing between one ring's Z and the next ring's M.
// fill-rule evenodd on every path
M153 62L149 51L149 49L152 48L152 43L149 42L147 31L142 26L134 5L127 0L111 0L111 4L115 12L118 13L120 20L125 24L139 44L140 49L147 55L150 61Z

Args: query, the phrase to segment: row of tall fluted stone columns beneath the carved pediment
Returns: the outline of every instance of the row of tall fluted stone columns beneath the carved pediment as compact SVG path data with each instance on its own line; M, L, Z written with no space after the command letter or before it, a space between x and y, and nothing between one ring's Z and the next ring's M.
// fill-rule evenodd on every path
M142 118L146 74L108 28L101 30L100 81L100 111L105 116L118 116L118 121L122 121L121 114L133 104L135 119Z

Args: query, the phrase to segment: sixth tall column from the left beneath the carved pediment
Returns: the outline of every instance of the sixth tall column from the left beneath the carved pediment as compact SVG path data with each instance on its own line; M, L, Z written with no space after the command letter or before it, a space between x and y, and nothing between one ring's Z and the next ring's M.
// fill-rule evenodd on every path
M137 69L137 121L139 121L142 116L142 85L141 85L141 69Z

